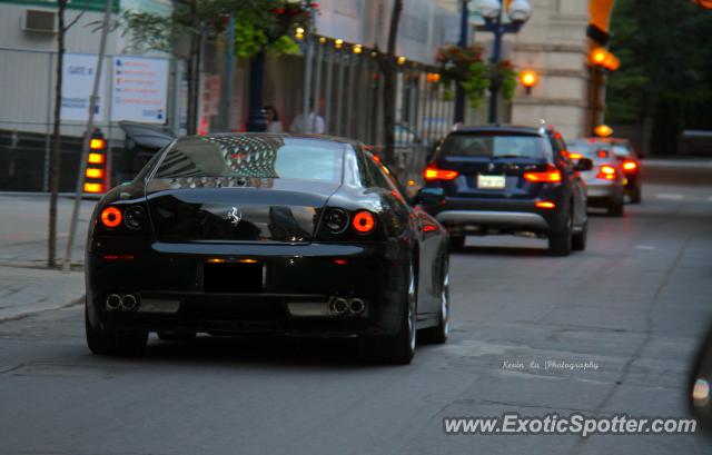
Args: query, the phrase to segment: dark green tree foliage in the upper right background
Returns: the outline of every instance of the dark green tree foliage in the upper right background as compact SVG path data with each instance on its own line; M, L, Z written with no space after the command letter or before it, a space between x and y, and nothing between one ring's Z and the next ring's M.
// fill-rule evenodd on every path
M621 69L609 77L607 122L654 117L661 102L712 102L712 12L690 1L619 0L611 30Z

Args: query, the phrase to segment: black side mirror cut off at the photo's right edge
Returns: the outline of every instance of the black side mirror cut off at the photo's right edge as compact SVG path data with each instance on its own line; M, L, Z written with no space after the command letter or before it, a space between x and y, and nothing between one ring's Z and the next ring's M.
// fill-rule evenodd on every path
M704 431L712 434L712 330L708 333L695 360L688 397L695 418Z

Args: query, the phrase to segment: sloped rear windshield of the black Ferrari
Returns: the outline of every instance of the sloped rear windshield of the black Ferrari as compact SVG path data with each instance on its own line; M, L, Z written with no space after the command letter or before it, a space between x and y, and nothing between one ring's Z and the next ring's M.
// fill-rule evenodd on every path
M204 136L179 140L154 178L236 177L342 181L347 144L279 135Z

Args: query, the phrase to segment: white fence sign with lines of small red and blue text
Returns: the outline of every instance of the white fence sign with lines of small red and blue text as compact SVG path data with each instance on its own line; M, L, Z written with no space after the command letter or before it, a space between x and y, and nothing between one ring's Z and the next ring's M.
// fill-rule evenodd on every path
M111 119L165 123L168 105L168 60L115 57Z

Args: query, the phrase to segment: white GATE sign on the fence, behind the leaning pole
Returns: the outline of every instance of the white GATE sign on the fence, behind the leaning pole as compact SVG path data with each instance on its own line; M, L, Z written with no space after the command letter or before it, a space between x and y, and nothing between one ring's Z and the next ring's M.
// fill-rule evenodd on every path
M62 65L62 120L87 121L89 118L89 98L93 88L93 75L97 71L97 56L89 53L66 53ZM99 82L96 121L103 121L105 78Z

